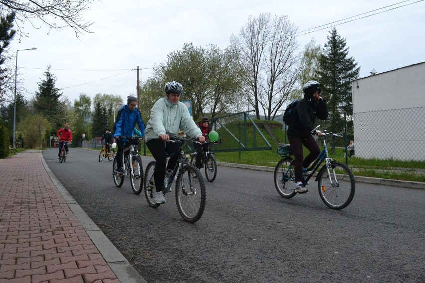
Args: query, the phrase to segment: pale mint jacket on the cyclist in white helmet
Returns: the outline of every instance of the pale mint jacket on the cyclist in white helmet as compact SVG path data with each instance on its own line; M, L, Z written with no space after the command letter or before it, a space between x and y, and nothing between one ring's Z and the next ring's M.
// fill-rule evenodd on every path
M145 142L159 139L160 135L177 135L179 130L183 130L189 137L202 136L186 105L182 102L173 104L166 97L158 99L152 107L151 119L146 125Z

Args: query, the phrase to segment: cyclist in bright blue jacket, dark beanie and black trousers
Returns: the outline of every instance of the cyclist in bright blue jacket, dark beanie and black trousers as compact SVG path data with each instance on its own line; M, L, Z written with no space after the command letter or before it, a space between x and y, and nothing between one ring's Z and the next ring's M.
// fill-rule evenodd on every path
M117 141L117 176L123 176L123 149L127 142L127 139L122 137L133 137L134 127L139 125L142 136L145 135L145 123L143 123L142 115L139 109L137 109L137 98L129 96L127 98L127 105L118 111L117 117L115 118L115 133L114 137Z

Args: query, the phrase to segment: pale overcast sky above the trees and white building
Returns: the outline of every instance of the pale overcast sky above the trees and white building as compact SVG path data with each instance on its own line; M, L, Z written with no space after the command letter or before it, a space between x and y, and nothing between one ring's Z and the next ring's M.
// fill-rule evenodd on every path
M373 68L382 73L425 61L424 0L103 0L90 8L84 20L94 22L93 33L78 39L70 28L47 34L47 27L26 24L29 36L10 44L14 53L37 48L18 52L18 79L24 79L27 99L50 65L56 87L72 103L82 92L92 98L96 93L119 95L126 101L136 94L137 66L144 81L152 67L184 43L224 49L249 15L262 12L286 14L298 31L305 31L297 36L300 50L313 37L323 47L334 22L349 56L361 67L360 77Z

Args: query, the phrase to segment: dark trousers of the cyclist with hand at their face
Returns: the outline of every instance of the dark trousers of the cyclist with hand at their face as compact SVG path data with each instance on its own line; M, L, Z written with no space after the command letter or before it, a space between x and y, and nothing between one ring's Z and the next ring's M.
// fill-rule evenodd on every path
M320 154L320 148L317 142L314 140L313 136L308 136L305 139L298 137L288 137L289 143L291 144L292 151L295 155L295 164L294 164L294 173L295 173L295 182L302 181L302 168L308 168L311 162L317 158ZM302 151L302 145L310 151L305 159Z

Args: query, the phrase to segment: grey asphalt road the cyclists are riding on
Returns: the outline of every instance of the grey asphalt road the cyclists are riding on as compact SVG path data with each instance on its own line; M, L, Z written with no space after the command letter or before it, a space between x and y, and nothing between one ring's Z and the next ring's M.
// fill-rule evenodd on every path
M128 178L115 187L112 161L99 163L98 151L70 150L65 163L56 148L43 155L149 283L425 282L424 190L357 183L352 203L336 211L316 182L288 200L272 172L219 166L203 217L189 224L174 190L153 209Z

